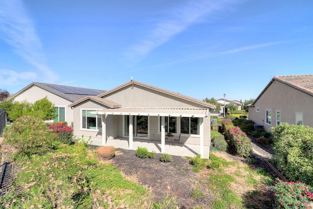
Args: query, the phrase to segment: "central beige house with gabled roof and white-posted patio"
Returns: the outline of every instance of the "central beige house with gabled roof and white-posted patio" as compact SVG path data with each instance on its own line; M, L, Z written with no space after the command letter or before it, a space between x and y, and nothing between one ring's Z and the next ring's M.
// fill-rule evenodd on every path
M126 138L161 141L165 134L180 135L180 143L210 145L210 113L215 105L131 80L98 96L87 96L74 108L74 135L91 137L92 144Z

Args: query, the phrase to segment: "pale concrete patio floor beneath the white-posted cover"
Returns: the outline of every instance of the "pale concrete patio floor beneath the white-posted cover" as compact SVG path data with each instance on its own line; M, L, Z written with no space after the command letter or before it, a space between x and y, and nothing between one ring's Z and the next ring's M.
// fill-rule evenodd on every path
M108 146L114 146L115 148L129 149L129 140L126 138L107 139ZM155 151L161 153L161 141L147 141L144 139L133 140L133 150L138 147L146 147L149 151ZM203 158L209 159L209 146L204 146ZM200 146L196 144L179 144L169 145L165 144L166 153L175 156L194 157L200 154Z

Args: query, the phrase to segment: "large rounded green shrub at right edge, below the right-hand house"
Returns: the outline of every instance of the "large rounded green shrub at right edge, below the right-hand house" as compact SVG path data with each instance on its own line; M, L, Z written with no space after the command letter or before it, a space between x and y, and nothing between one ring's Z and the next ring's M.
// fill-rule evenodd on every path
M313 128L281 123L271 130L275 167L289 180L313 186Z

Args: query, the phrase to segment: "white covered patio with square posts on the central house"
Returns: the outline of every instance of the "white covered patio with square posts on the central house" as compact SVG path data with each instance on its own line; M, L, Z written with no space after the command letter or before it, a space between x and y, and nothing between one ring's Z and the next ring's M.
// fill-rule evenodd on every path
M113 145L117 148L125 148L135 150L138 146L146 147L149 151L156 151L156 153L169 153L178 156L195 156L197 154L201 155L201 158L208 158L209 156L209 146L204 147L204 125L203 118L209 116L208 109L200 108L115 108L115 109L105 109L97 110L92 112L92 114L97 114L102 116L102 145ZM128 117L128 130L129 135L127 138L115 138L108 139L106 133L106 117L107 116L127 116ZM135 116L147 116L148 120L151 116L157 116L160 120L160 138L161 140L140 140L133 136L134 121ZM199 144L186 144L180 143L180 146L168 145L165 142L165 117L190 117L199 118ZM154 124L158 125L158 124ZM112 127L112 129L118 127ZM150 139L150 133L148 131L148 139Z

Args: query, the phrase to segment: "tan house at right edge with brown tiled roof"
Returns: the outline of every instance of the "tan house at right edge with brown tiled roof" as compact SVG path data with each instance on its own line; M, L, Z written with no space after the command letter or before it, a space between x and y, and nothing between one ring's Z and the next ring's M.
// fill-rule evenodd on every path
M248 106L249 119L266 131L281 122L313 127L313 74L274 76Z

